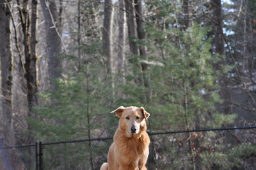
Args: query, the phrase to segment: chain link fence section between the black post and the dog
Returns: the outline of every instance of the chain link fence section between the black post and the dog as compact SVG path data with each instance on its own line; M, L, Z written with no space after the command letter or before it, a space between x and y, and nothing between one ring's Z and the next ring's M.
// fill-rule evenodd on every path
M42 169L99 169L112 138L42 144Z

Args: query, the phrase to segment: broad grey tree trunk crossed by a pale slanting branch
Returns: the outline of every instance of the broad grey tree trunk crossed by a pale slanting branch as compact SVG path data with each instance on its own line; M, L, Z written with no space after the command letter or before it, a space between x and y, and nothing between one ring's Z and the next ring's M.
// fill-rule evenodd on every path
M49 77L51 79L51 89L54 90L55 87L52 80L61 77L61 60L58 57L58 54L61 52L60 16L58 15L54 0L40 0L40 4L45 20L46 56L49 58Z

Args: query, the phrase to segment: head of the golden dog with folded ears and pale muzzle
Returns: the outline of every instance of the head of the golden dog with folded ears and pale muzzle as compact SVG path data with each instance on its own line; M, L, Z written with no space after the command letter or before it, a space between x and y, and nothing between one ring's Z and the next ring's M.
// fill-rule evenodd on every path
M150 115L143 107L134 106L120 106L111 113L115 113L120 118L119 127L125 130L127 135L138 134L141 128L145 129L145 120L148 120Z

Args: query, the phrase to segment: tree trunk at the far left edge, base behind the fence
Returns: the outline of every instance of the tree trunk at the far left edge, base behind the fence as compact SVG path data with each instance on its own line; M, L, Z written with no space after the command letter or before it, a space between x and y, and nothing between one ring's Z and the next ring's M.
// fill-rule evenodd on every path
M12 130L12 54L10 49L10 1L0 0L0 147L15 144ZM15 150L3 150L0 154L1 169L22 169Z

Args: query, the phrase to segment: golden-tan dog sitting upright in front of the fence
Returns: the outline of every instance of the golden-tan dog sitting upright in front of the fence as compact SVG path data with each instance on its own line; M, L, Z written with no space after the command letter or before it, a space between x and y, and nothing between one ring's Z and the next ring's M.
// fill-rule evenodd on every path
M150 115L143 107L118 107L115 111L119 125L114 142L108 152L108 163L100 170L145 170L147 167L148 146L146 120Z

